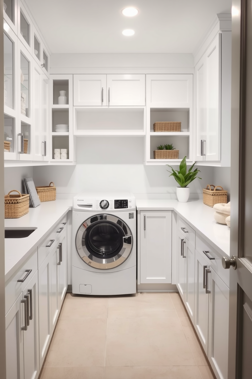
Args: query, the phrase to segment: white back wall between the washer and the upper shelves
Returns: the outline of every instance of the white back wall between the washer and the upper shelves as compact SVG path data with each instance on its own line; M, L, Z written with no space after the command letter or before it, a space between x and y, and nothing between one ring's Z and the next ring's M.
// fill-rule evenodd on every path
M168 166L145 166L142 137L85 137L77 140L76 166L36 166L35 185L53 181L57 198L78 192L131 191L137 198L176 198L176 181ZM178 169L178 168L175 168ZM200 168L190 185L191 198L201 198L202 188L213 181L213 168Z

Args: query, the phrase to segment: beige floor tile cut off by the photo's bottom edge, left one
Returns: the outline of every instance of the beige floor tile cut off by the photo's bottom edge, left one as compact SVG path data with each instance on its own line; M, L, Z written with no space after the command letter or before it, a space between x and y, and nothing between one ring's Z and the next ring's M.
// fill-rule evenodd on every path
M43 367L39 379L104 379L105 367Z

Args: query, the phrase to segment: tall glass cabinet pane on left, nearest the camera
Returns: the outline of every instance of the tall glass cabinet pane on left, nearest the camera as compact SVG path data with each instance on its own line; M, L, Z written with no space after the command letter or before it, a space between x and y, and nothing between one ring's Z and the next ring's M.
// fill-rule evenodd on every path
M13 109L13 42L3 34L5 105Z

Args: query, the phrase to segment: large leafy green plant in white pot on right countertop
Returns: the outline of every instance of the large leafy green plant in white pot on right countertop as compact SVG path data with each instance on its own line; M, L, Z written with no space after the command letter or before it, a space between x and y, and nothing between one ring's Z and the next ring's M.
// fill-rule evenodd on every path
M167 166L169 166L172 169L172 172L169 171L170 172L169 176L173 176L176 182L179 184L179 187L176 188L176 194L177 194L179 202L182 202L182 203L187 202L187 200L189 199L189 194L190 194L190 188L187 186L194 179L199 178L197 174L200 171L197 168L194 171L192 171L195 163L196 162L194 162L193 165L189 168L188 172L187 172L187 167L186 167L186 157L182 159L179 165L179 171L173 170L173 168L169 164L167 164Z

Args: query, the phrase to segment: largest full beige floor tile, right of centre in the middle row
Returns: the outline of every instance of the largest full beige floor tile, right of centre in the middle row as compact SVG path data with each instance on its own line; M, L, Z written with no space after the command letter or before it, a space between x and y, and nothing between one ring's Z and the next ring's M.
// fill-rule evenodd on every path
M195 366L178 318L108 318L106 366Z

